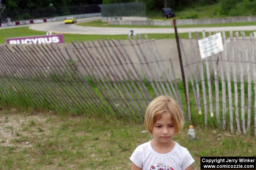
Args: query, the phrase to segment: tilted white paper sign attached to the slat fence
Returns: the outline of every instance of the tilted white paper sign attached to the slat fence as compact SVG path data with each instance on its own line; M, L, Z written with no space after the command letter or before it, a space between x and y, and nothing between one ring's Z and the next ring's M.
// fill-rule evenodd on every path
M201 58L210 57L223 51L223 44L220 32L207 38L198 40Z

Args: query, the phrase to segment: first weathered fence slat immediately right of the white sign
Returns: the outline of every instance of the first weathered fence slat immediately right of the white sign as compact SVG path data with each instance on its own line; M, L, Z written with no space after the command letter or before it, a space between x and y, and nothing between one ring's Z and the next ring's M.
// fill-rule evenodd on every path
M224 56L226 62L226 74L227 74L227 82L228 82L228 95L229 95L229 121L230 121L230 131L233 132L233 102L232 102L232 89L231 89L231 80L230 80L230 72L229 72L229 63L228 63L228 53L227 53L227 42L226 42L226 34L225 31L222 31L223 36L223 44L224 44Z

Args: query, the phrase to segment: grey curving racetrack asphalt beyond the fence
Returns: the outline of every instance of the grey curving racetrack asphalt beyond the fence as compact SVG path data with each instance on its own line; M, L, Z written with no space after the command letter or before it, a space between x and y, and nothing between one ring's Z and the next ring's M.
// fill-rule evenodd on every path
M92 20L100 20L101 17L90 17L77 19L77 22L86 22ZM173 28L118 28L118 27L92 27L92 26L78 26L75 24L64 24L64 21L55 21L47 23L37 23L23 25L29 26L29 29L37 31L51 31L53 33L66 33L66 34L89 34L89 35L127 35L130 30L136 34L157 34L157 33L174 33ZM12 26L17 27L17 26ZM11 27L6 27L11 28ZM4 28L2 28L4 29ZM222 27L193 27L193 28L178 28L178 32L201 32L202 30L208 31L255 31L256 26L222 26Z

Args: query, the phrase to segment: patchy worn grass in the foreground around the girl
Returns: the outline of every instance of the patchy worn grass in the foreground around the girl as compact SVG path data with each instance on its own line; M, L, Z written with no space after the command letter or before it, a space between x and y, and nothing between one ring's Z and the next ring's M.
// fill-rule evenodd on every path
M19 136L10 134L10 128L1 131L8 141L0 143L0 169L130 169L134 149L152 139L151 134L141 133L144 125L135 120L5 111L0 111L0 124L6 126L3 118L8 116L8 125L13 124ZM188 124L173 140L189 150L195 159L193 169L200 169L201 156L256 156L253 136L195 125L200 140L189 141L187 131Z

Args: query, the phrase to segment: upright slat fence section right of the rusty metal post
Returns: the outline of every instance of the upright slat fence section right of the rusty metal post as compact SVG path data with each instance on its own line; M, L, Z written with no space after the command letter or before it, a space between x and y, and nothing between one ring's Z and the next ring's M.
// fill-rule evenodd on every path
M211 36L211 32L203 31L203 38L205 34ZM230 31L226 37L223 31L222 39L224 51L204 59L200 56L198 32L195 39L190 32L189 39L180 39L186 91L187 95L191 93L188 105L203 114L205 127L209 119L215 119L223 130L245 134L254 128L256 135L256 33L245 37L245 32L239 35ZM189 41L190 54L185 52L185 41Z

